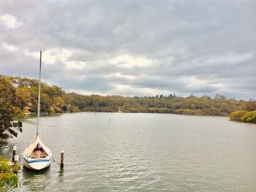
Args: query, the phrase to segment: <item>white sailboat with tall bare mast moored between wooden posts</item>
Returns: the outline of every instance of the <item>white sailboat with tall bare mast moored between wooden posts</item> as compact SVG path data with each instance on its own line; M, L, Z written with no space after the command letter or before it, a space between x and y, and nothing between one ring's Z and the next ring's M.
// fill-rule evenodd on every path
M41 63L42 51L40 51L40 66L39 66L39 90L38 90L38 105L37 105L37 133L35 141L26 147L23 152L23 165L29 169L41 170L50 166L52 153L46 147L39 137L39 118L40 118L40 93L41 93Z

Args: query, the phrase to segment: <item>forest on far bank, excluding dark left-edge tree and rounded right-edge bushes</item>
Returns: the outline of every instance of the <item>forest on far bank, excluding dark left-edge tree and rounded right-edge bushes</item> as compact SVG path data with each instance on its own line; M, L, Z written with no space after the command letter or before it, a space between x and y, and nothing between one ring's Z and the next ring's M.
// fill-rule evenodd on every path
M18 115L37 112L38 80L23 77L0 76L0 85L15 91L9 94ZM6 94L10 92L6 91ZM10 98L12 96L12 98ZM227 99L216 95L187 97L163 96L85 96L66 93L56 85L42 83L41 112L45 114L61 112L155 112L185 115L230 115L231 112L246 110L248 101Z

